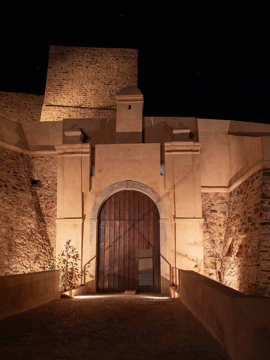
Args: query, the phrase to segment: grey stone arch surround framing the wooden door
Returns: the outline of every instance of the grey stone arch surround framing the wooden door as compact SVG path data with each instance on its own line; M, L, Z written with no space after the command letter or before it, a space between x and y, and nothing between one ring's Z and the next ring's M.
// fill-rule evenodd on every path
M105 200L112 194L121 190L137 190L146 194L157 205L160 223L160 271L161 271L161 292L167 293L168 280L170 279L170 269L167 262L167 211L160 196L149 186L138 183L137 181L120 181L119 183L108 186L96 198L90 213L90 247L97 247L98 242L98 215L100 208Z

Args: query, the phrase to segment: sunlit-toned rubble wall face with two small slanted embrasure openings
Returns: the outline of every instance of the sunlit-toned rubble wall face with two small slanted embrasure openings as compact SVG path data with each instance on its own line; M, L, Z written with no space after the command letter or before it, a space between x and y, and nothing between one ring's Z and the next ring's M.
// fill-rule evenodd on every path
M261 199L262 170L229 193L221 279L224 285L250 295L257 295ZM242 254L238 253L241 244Z

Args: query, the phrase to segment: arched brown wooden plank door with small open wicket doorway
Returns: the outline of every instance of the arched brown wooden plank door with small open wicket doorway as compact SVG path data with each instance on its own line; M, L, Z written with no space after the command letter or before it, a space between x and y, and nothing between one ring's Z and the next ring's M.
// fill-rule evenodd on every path
M97 291L160 291L159 212L147 195L123 190L99 213Z

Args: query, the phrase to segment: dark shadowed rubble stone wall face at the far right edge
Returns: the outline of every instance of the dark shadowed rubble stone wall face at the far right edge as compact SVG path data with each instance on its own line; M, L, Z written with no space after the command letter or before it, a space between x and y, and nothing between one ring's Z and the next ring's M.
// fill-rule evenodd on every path
M256 295L270 297L270 169L262 170L262 199Z

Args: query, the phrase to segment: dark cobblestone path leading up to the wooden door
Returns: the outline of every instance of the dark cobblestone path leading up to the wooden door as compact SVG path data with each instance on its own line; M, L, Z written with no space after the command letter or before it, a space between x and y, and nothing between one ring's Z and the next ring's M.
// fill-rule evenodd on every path
M231 358L177 298L94 294L0 320L0 359Z

